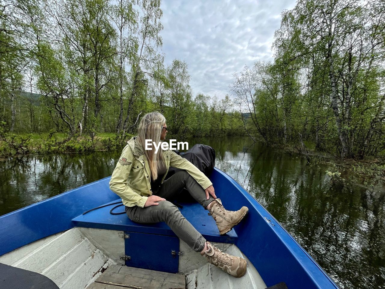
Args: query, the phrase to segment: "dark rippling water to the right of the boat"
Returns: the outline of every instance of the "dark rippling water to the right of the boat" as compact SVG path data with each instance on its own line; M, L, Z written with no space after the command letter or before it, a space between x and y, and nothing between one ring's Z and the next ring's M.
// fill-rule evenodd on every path
M215 147L215 142L211 144ZM333 185L326 165L261 144L221 141L216 166L238 181L341 288L385 288L385 191ZM354 178L347 176L346 179Z

